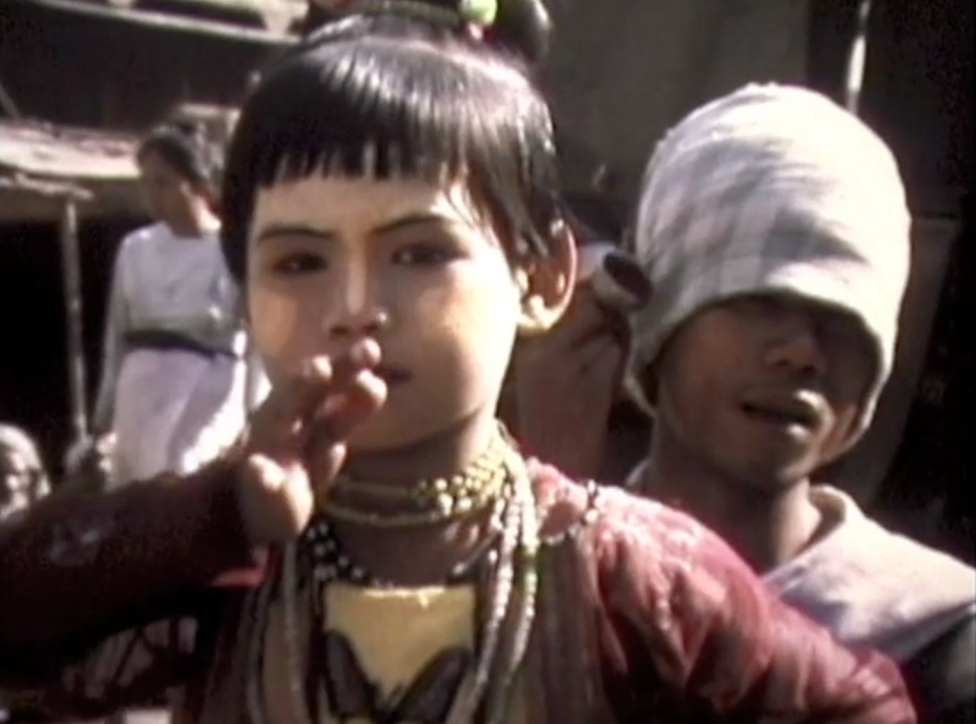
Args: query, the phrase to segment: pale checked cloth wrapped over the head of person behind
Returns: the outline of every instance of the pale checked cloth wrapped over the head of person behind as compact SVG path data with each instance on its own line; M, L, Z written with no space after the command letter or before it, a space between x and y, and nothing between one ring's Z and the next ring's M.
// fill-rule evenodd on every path
M654 291L632 316L635 369L712 302L829 304L862 322L877 353L852 445L891 371L910 228L891 151L833 101L778 85L712 101L659 143L644 175L635 247Z

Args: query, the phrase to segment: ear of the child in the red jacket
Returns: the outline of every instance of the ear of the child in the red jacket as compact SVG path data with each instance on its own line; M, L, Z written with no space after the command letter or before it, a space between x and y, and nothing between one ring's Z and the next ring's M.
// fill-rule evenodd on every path
M564 222L557 222L549 254L519 265L515 280L522 293L519 334L539 335L555 326L573 299L576 286L576 239Z

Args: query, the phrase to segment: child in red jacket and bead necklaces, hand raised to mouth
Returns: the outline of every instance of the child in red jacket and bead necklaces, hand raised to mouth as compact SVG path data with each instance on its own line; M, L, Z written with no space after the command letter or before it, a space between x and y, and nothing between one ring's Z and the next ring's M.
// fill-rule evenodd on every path
M913 721L890 664L697 523L525 461L496 422L576 264L508 32L538 14L344 9L229 148L224 252L270 396L192 484L8 535L0 585L73 605L0 596L0 679L59 675L50 701L86 716L183 684L198 724Z

